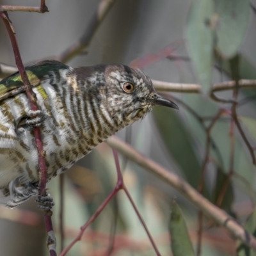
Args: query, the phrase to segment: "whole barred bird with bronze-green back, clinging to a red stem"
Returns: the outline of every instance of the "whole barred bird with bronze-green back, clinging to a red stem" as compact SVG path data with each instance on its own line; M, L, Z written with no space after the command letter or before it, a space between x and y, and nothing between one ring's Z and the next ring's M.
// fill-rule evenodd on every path
M19 72L0 81L0 191L9 208L38 195L34 127L40 127L49 182L154 106L179 109L157 94L141 70L126 65L72 68L46 60L26 67L26 73L37 111L29 107ZM44 199L42 208L51 209L51 196L48 203Z

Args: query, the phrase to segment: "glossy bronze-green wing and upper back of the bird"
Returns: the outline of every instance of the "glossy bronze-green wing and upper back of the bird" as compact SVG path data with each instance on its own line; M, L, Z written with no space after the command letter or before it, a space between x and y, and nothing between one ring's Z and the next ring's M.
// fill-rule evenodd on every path
M31 85L34 87L38 86L44 79L44 76L49 74L50 71L57 72L60 69L67 68L68 66L60 61L46 60L26 67L26 72ZM16 72L0 81L0 102L1 100L12 97L13 95L17 95L21 92L25 92L25 87L22 83L19 72Z

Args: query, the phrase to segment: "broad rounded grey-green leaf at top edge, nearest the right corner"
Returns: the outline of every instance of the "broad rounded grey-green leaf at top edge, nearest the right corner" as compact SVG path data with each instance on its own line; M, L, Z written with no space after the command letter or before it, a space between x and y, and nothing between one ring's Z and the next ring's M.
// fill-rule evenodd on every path
M246 32L250 16L249 0L216 0L215 10L218 17L216 26L216 46L221 56L231 58Z

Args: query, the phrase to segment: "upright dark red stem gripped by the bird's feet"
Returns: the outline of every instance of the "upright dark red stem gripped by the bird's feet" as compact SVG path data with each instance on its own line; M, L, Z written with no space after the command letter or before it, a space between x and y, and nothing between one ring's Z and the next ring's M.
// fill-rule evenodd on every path
M12 42L13 53L15 56L15 63L17 65L17 68L19 69L20 77L22 78L22 82L24 83L24 86L26 88L26 93L28 95L31 110L35 111L38 109L38 106L36 104L36 95L32 90L26 70L22 63L20 52L19 52L19 47L18 47L17 40L15 37L15 32L13 30L12 24L10 23L10 20L8 19L7 13L0 12L0 17L1 17L1 19L3 19L4 25L6 26L8 35ZM45 160L44 160L46 152L43 148L43 143L42 143L39 127L35 127L34 134L35 134L36 147L38 149L38 165L40 168L39 195L43 195L43 193L45 193L45 184L46 184L46 165L45 165ZM51 214L52 214L51 211L45 212L44 220L45 220L45 227L46 227L47 233L48 233L47 245L49 248L50 255L54 256L54 255L56 255L56 239L55 239L53 228L52 228Z

